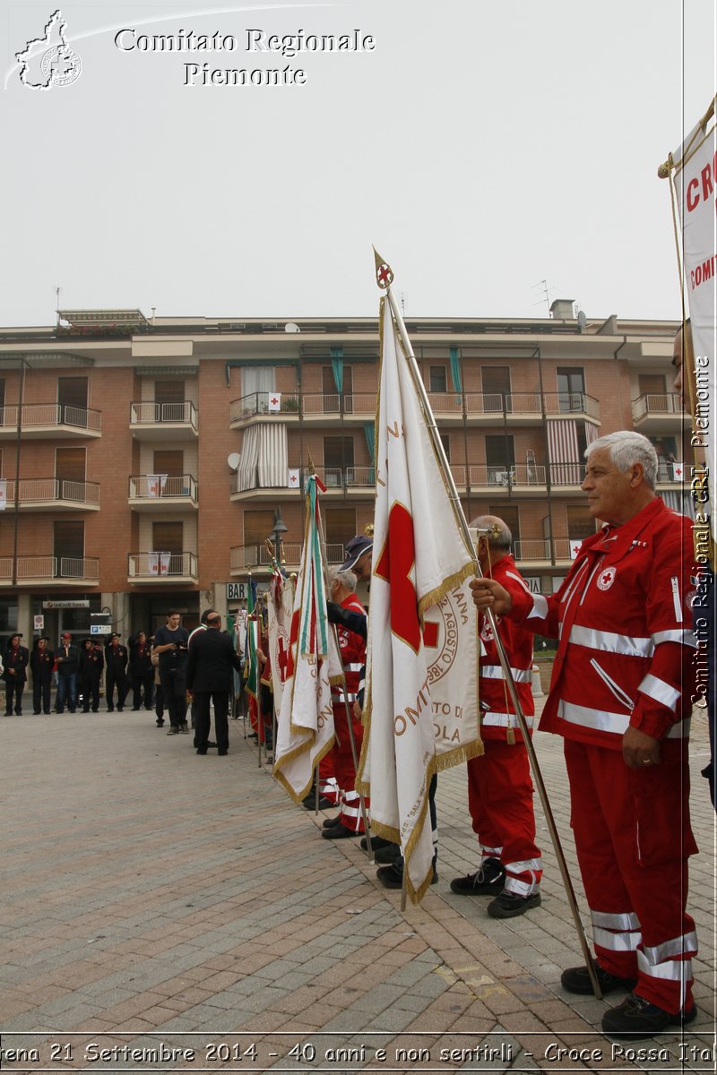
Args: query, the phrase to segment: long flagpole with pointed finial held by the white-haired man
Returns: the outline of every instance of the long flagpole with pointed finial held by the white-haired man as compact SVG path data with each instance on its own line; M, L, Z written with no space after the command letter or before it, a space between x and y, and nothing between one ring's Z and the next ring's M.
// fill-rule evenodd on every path
M430 404L429 399L428 399L428 393L426 392L426 386L424 385L424 381L422 381L422 378L420 376L420 373L419 373L419 370L418 370L418 366L417 366L417 362L416 362L416 356L413 353L413 347L411 346L411 341L408 339L408 333L406 331L406 327L405 327L405 325L403 322L403 317L401 316L401 311L399 309L399 304L396 301L396 298L395 298L393 292L391 290L391 282L393 280L393 273L391 271L390 266L381 257L381 255L376 250L375 246L373 248L373 253L374 253L375 260L376 260L376 281L378 283L378 287L382 288L382 290L386 291L386 298L388 299L388 301L390 303L391 313L393 315L393 320L395 320L396 326L397 326L397 328L399 330L399 334L401 336L401 342L403 344L403 348L404 348L404 352L405 352L405 355L406 355L406 359L407 359L407 362L408 362L408 370L411 372L411 377L413 379L414 387L415 387L415 389L416 389L416 391L418 393L418 398L420 399L420 402L421 402L421 407L424 410L424 417L426 419L426 427L427 427L427 429L429 431L429 434L430 434L430 438L431 438L431 443L433 445L433 450L434 450L434 453L436 455L436 458L438 458L438 460L440 462L440 465L441 465L441 468L443 470L443 476L444 476L444 479L445 479L445 483L446 483L446 487L448 488L448 491L449 491L450 501L453 503L454 513L455 513L455 516L456 516L456 521L458 522L458 526L459 526L459 528L460 528L460 530L461 530L461 532L463 534L463 538L467 541L469 547L470 548L474 548L474 546L473 546L473 539L471 538L471 531L470 531L468 521L465 519L465 515L463 514L463 508L462 508L462 505L461 505L461 502L460 502L460 498L458 496L458 490L456 488L456 483L454 481L454 476L453 476L453 473L450 471L450 467L448 465L448 460L446 459L446 454L445 454L445 449L443 447L443 442L442 442L441 438L439 436L438 427L435 425L435 419L433 417L433 411L431 408L431 404ZM478 563L478 559L477 559L477 556L475 555L475 551L474 551L474 556L473 556L473 561L474 561L474 565L475 565L475 574L476 574L476 576L478 576L479 578L483 578L484 577L483 571L481 569L481 564ZM526 750L528 751L528 760L530 761L530 768L531 768L531 771L532 771L532 774L533 774L533 777L534 777L534 780L535 780L535 786L537 788L537 793L539 793L539 797L540 797L540 800L541 800L541 804L543 806L543 813L545 814L545 820L547 821L548 831L550 833L550 840L553 841L553 847L555 849L556 858L558 860L558 865L560 868L560 875L562 877L562 883L563 883L564 888L565 888L565 894L568 897L568 903L570 904L570 909L571 909L571 913L572 913L572 916L573 916L573 921L575 923L575 929L576 929L576 932L577 932L577 937L578 937L578 941L580 943L580 948L583 950L583 956L585 958L585 963L586 963L586 966L587 966L588 975L590 977L590 984L592 985L592 991L593 991L593 993L594 993L594 995L597 997L598 1000L602 1000L602 990L601 990L600 985L598 983L598 976L596 974L596 969L594 969L594 963L593 963L593 959L592 959L592 954L590 951L590 948L589 948L589 945L588 945L588 942L587 942L587 937L585 935L585 928L583 926L583 920L580 918L579 908L577 906L577 899L575 897L575 889L573 888L573 882L572 882L572 878L571 878L570 873L568 871L568 863L565 861L565 856L564 856L563 850L562 850L562 844L560 843L560 835L558 833L558 829L557 829L557 826L556 826L556 822L555 822L555 818L553 816L553 808L550 806L549 800L548 800L547 790L545 788L545 782L543 780L543 774L541 772L541 769L540 769L540 765L539 765L539 762L537 762L537 756L535 754L535 748L533 746L533 741L532 741L532 737L531 737L531 734L530 734L530 730L528 728L528 722L527 722L526 716L525 716L525 714L522 712L522 706L520 704L520 699L518 698L518 691L517 691L517 688L515 686L515 680L513 678L513 673L511 672L511 664L510 664L510 661L508 661L507 656L505 654L505 647L503 646L503 641L502 641L502 639L501 639L501 636L499 634L499 631L498 631L498 624L497 624L496 616L494 616L494 613L493 613L492 608L486 608L486 615L488 617L488 622L490 624L490 627L491 627L491 630L492 630L492 633L493 633L493 639L494 639L494 642L496 642L496 648L498 650L498 656L500 658L501 668L503 670L503 676L504 676L505 685L507 687L508 694L511 696L511 701L512 701L513 707L515 710L515 716L518 718L518 726L519 726L520 731L522 733L522 739L524 739L524 743L526 745Z

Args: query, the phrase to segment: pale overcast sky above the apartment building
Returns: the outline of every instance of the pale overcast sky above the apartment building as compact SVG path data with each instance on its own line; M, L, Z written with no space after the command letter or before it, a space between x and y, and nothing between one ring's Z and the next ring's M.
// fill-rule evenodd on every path
M714 0L66 3L80 76L23 85L55 4L2 0L0 325L60 307L374 316L371 245L407 316L679 316L658 164L715 92ZM118 30L232 35L121 51ZM246 31L372 52L249 53ZM210 70L292 86L185 85ZM542 283L546 281L547 284Z

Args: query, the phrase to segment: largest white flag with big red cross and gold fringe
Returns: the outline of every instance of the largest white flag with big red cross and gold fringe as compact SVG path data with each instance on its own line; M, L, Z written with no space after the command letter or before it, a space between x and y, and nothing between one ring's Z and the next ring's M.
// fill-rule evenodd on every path
M483 752L474 549L459 528L421 410L411 356L382 300L375 431L376 507L360 789L371 828L403 848L406 889L432 876L428 786L439 769Z

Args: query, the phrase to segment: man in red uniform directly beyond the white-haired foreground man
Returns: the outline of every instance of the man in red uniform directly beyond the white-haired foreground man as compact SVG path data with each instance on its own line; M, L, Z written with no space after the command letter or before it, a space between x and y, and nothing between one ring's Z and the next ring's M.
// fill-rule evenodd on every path
M525 599L529 590L511 556L513 538L503 519L482 515L471 527L478 531L476 551L483 574L496 579L518 600ZM498 630L520 706L528 726L532 727L535 712L531 690L532 633L505 618L499 619ZM485 615L481 616L479 632L478 699L483 711L481 735L486 749L479 758L468 762L468 807L483 861L476 873L451 880L450 888L460 895L492 895L488 914L492 918L514 918L540 906L543 863L535 845L528 754Z

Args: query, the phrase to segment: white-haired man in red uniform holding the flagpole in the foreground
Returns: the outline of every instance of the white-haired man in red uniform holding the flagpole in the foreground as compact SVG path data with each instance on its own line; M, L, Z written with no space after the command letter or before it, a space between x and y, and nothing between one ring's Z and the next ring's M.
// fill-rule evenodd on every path
M604 993L634 990L608 1010L614 1037L651 1037L689 1022L694 922L686 913L691 713L690 520L655 494L647 438L610 433L586 452L583 489L605 526L580 546L549 598L471 583L478 608L511 613L557 636L541 729L564 736L572 826ZM590 993L585 966L563 988Z

